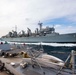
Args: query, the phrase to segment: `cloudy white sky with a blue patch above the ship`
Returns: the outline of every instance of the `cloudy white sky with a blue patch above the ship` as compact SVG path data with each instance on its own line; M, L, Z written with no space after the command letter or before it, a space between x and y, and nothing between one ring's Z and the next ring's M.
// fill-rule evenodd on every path
M76 33L76 0L0 0L0 37L15 26L34 32L39 21L60 34Z

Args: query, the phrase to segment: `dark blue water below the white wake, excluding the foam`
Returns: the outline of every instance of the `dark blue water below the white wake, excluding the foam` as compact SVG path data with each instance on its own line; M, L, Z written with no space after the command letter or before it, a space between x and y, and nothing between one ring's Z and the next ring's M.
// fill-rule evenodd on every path
M72 50L75 50L76 51L76 46L73 46L73 47L66 47L66 46L43 46L44 48L44 52L45 53L48 53L48 54L51 54L51 55L54 55L62 60L66 60L68 55L71 53Z

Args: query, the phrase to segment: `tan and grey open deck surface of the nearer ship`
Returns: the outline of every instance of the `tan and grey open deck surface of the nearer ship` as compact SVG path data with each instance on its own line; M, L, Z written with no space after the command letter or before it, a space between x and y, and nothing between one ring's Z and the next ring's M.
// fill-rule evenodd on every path
M19 62L21 62L21 60L19 60L19 62L17 61L17 58L13 58L14 60L10 60L10 59L6 59L6 58L0 58L3 62L7 62L8 64L6 65L7 69L12 71L12 73L14 73L15 75L57 75L59 70L53 69L53 68L45 68L42 67L42 69L40 69L39 66L35 66L34 68L32 67L32 65L28 65L26 68L21 68L19 66ZM15 62L16 65L15 66L11 66L9 63L11 62ZM62 70L59 75L72 75L72 71L68 70L68 69L64 69ZM76 73L75 73L76 74Z

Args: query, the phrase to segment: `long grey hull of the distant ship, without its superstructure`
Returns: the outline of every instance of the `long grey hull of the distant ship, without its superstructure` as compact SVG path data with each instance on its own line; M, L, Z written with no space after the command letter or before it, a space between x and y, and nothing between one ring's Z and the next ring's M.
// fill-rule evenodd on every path
M46 36L30 36L30 37L16 37L16 38L2 38L10 42L25 42L25 43L76 43L76 33L70 34L47 34Z

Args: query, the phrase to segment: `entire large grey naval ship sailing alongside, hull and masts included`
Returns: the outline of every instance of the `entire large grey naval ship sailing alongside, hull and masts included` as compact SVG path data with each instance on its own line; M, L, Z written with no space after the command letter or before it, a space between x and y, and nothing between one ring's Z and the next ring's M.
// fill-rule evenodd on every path
M76 43L76 33L59 34L55 32L54 27L42 27L41 22L38 23L39 28L36 28L32 33L30 28L27 28L27 33L24 30L17 33L17 27L7 35L2 36L1 39L10 42L23 42L23 43Z

